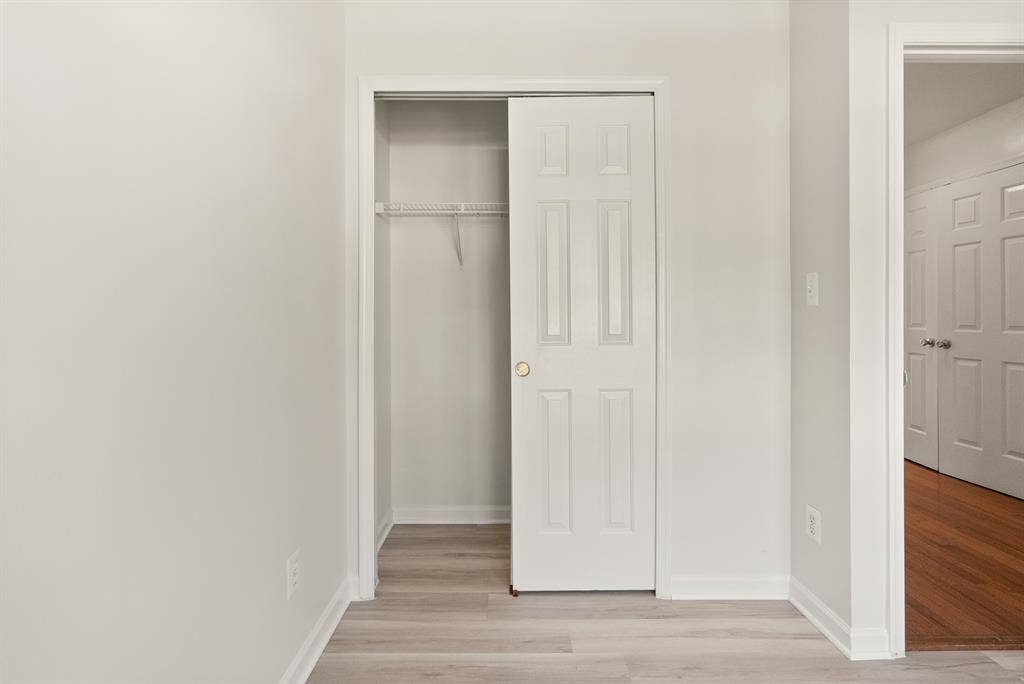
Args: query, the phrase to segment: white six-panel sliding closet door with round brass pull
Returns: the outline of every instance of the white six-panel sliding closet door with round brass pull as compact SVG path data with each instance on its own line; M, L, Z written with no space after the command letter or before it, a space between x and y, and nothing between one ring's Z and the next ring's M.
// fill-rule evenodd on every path
M651 96L509 100L512 583L654 588Z

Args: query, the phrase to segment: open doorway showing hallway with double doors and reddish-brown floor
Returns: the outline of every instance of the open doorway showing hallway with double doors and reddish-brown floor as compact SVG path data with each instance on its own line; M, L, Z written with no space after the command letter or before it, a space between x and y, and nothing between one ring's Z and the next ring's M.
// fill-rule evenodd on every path
M906 649L1024 648L1024 63L903 74Z

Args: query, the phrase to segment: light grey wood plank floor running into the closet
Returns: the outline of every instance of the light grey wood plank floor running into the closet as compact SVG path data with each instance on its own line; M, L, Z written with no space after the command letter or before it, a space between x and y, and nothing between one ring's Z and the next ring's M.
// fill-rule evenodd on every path
M1000 651L850 662L785 601L508 594L508 525L396 525L309 681L1024 682Z

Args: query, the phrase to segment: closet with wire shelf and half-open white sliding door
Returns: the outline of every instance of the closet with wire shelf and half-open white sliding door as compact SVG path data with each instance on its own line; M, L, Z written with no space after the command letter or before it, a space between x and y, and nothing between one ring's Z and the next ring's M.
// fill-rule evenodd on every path
M375 102L375 501L510 589L654 587L653 98Z

